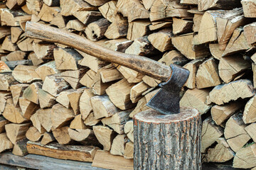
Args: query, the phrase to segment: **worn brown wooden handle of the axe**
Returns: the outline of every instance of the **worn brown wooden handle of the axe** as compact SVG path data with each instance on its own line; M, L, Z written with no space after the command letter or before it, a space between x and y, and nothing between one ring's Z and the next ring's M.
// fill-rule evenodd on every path
M109 50L74 33L68 33L41 23L27 22L26 36L68 45L94 57L129 67L161 81L167 81L171 77L171 68L160 62L139 55L128 55Z

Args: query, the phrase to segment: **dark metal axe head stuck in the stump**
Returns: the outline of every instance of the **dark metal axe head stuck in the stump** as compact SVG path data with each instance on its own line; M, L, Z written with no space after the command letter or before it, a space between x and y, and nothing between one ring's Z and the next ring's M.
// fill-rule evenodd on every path
M182 86L186 83L189 71L175 64L171 64L171 78L159 84L160 91L151 100L146 103L146 106L153 108L165 115L180 113L179 93Z

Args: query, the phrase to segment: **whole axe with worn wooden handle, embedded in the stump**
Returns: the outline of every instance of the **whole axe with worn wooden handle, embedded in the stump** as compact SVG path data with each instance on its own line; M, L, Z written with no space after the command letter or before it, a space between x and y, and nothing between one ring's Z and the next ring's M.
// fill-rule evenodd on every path
M146 103L146 106L166 115L180 113L179 92L188 79L189 71L187 69L175 64L171 64L169 67L147 57L109 50L74 33L41 23L26 22L26 36L68 45L101 60L114 62L164 81L159 84L161 90Z

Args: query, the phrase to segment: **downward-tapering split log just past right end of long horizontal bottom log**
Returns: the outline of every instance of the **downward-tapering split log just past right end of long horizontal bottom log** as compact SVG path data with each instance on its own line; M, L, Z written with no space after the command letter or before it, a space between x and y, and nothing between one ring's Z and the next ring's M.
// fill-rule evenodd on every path
M103 150L110 151L112 141L116 136L114 131L110 128L102 125L92 126L93 132L97 137L97 140L103 145Z

